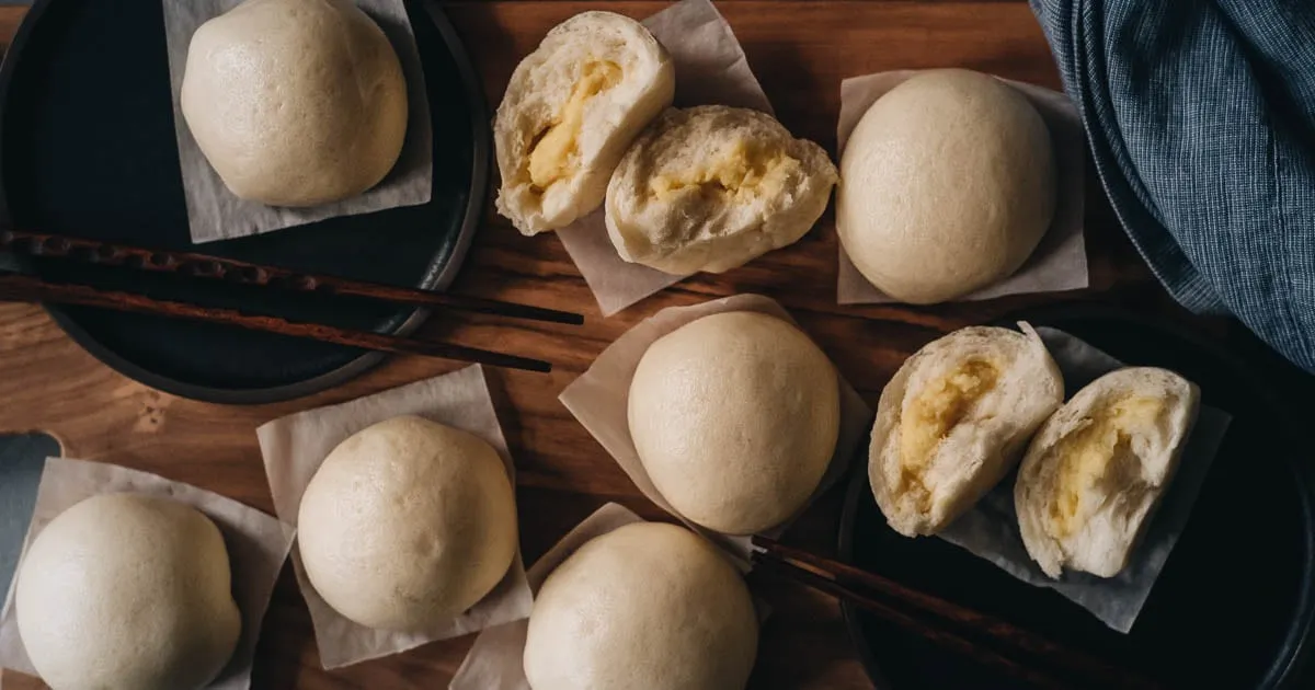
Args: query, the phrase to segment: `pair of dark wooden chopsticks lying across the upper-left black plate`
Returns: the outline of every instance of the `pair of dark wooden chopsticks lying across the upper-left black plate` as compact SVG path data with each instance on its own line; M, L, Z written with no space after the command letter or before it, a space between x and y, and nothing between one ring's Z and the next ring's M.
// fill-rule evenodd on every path
M266 289L287 289L317 294L347 294L391 304L493 314L550 323L575 326L584 323L584 318L580 314L558 311L555 309L477 297L460 297L394 285L380 285L335 276L301 273L287 268L252 264L205 254L149 250L24 230L0 230L0 254L3 252L9 252L14 256L36 256L121 267L128 271L174 273ZM341 329L323 323L293 322L277 317L247 314L237 309L220 309L188 302L156 300L146 294L107 290L76 283L53 283L22 272L0 272L0 301L50 302L154 314L208 323L222 323L254 331L275 333L383 352L425 355L534 372L547 372L552 368L550 363L537 359L441 343L425 338Z

